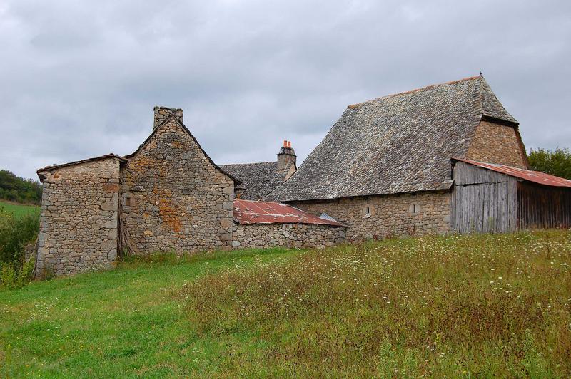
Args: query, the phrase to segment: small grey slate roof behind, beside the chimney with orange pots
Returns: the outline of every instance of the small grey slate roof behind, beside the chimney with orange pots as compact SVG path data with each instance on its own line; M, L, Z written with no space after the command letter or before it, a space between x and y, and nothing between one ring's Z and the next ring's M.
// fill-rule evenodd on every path
M278 162L243 163L220 167L242 182L238 187L243 189L241 199L261 200L283 182L283 176L276 171Z

